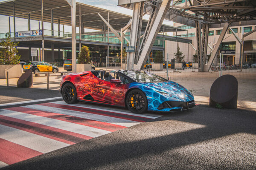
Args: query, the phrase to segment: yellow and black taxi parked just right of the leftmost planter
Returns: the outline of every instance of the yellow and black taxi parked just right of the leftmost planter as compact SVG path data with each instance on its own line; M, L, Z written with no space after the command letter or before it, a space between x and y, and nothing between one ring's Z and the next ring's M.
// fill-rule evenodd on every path
M28 70L32 70L34 73L39 73L39 72L57 73L58 67L56 67L55 65L52 65L48 62L30 61L30 62L26 62L23 65L23 71L28 71Z

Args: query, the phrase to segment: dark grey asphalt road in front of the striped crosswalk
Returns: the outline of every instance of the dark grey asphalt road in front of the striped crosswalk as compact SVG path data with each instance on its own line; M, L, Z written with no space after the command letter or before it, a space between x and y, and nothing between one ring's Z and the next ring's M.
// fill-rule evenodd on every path
M256 169L256 112L199 105L3 170Z

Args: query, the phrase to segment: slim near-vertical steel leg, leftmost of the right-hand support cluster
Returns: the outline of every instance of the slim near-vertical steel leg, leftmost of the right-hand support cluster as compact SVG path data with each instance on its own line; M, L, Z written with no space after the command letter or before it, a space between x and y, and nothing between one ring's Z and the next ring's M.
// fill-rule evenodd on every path
M198 71L203 71L203 58L202 58L202 41L201 41L201 21L195 21L195 32L198 52Z

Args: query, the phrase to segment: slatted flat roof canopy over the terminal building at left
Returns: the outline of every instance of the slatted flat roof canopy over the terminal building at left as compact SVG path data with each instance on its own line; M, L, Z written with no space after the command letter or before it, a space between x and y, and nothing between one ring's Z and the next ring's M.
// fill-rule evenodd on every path
M131 0L133 1L133 0ZM15 3L15 17L41 21L41 0L6 0L0 2L0 14L13 16L13 2ZM51 11L53 11L53 23L71 26L71 7L66 0L43 0L44 22L51 22ZM76 3L76 26L79 27L79 6L81 7L81 23L84 28L104 30L104 22L98 13L105 19L108 18L110 25L119 30L123 28L131 19L131 16L120 14L114 11L97 8L83 3ZM145 29L147 20L143 20L142 27ZM108 29L107 26L105 26ZM162 25L160 32L185 31L173 26Z

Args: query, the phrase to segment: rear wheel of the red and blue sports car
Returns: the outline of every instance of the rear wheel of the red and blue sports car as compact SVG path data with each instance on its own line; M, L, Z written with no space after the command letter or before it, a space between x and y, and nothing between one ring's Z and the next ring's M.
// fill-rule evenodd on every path
M63 100L68 104L79 102L76 99L76 88L72 83L67 83L63 86L61 90L61 96Z

